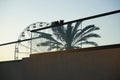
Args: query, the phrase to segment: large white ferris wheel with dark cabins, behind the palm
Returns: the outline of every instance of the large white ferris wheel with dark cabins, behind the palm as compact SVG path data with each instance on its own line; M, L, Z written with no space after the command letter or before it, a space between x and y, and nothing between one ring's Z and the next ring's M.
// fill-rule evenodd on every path
M25 39L30 39L28 41L23 41L23 42L18 42L15 44L15 54L14 58L15 60L22 59L24 57L29 57L30 54L32 53L40 53L40 52L45 52L47 51L47 47L38 47L37 44L39 42L43 42L44 39L42 38L37 38L37 39L32 39L35 37L39 37L38 33L32 33L31 30L38 29L38 28L43 28L46 26L50 26L49 23L47 22L36 22L28 27L26 27L19 35L18 41L19 40L25 40ZM42 30L41 32L50 32L49 29ZM44 49L43 49L44 48Z

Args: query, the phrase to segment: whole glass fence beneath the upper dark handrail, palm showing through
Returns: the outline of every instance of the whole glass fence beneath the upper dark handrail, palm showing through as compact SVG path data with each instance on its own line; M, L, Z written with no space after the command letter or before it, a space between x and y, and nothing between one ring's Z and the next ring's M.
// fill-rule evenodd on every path
M32 53L44 53L120 43L120 15L68 23L32 33Z

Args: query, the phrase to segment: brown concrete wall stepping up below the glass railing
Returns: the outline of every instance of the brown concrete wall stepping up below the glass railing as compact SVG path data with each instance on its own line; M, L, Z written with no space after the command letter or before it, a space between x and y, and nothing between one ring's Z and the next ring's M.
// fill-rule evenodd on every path
M120 45L0 62L0 80L120 80Z

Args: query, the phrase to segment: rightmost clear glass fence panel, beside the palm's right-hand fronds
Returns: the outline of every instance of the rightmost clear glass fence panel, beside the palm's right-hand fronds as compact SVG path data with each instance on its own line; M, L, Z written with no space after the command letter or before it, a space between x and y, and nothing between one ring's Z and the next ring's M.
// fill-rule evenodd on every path
M83 28L88 25L99 27L99 30L94 30L93 33L100 35L101 38L89 39L95 41L99 46L120 44L120 14L99 17L82 22Z

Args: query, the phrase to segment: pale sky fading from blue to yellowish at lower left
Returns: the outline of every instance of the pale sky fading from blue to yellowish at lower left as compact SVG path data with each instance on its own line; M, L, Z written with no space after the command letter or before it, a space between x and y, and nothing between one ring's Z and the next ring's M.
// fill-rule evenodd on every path
M118 9L120 9L120 0L0 0L0 44L16 41L20 33L35 22L50 23L56 20L67 22ZM113 43L111 41L114 40L115 43L119 43L120 38L114 36L120 34L120 14L94 19L83 24L94 22L98 26L104 25L101 28L103 32L100 32L101 35L105 34L104 40L100 44ZM109 26L109 30L105 26ZM0 46L0 61L13 59L12 52L14 46Z

